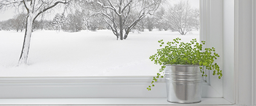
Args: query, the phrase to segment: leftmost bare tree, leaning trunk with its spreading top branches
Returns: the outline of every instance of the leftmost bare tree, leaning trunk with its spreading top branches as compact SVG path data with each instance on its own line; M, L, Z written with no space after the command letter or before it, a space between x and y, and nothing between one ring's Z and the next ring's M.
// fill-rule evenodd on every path
M23 7L27 11L26 15L26 31L20 59L18 64L26 64L29 54L30 39L32 35L32 25L35 19L42 13L58 4L67 4L70 0L1 0L0 9L8 7Z

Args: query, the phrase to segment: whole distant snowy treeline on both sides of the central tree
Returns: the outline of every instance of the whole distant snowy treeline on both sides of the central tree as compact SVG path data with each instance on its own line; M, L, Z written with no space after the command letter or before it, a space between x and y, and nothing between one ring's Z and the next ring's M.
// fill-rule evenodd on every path
M67 32L78 32L81 30L97 31L101 29L111 29L108 21L102 14L97 14L97 7L76 10L70 14L55 14L52 20L35 20L33 31L35 30L56 30ZM136 17L135 12L130 12L129 20ZM152 31L178 31L185 35L189 31L199 30L199 10L191 8L188 2L179 2L168 8L160 6L154 15L147 15L135 25L132 30ZM116 18L116 17L115 17ZM115 19L117 20L117 19ZM127 21L129 21L127 19ZM119 24L119 23L116 23ZM17 14L12 19L0 22L0 30L23 31L26 25L26 14Z

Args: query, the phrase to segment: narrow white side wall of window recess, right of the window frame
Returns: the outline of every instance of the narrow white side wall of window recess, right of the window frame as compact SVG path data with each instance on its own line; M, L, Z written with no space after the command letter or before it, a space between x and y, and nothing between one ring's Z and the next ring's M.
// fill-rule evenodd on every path
M216 53L220 56L216 63L218 63L220 70L223 70L223 0L211 0L210 1L210 26L209 33L207 35L207 47L215 47ZM211 73L212 75L212 73ZM223 97L223 78L218 79L218 77L210 77L211 86Z

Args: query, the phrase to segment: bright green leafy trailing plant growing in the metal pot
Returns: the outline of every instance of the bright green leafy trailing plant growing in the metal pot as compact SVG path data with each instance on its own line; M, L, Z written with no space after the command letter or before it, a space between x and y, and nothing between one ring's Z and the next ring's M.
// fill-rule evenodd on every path
M196 39L192 39L189 43L179 42L181 39L173 39L172 42L163 42L159 40L161 49L157 50L157 53L150 56L149 59L154 61L154 64L162 65L157 76L153 77L151 86L148 86L148 90L151 90L151 87L154 86L154 82L158 78L163 78L165 69L165 64L199 64L202 76L207 76L205 69L213 70L212 75L218 75L218 78L222 77L222 70L220 70L217 63L214 63L214 60L219 57L218 53L215 53L215 48L205 48L203 51L203 45L205 41L201 41L202 44L199 44Z

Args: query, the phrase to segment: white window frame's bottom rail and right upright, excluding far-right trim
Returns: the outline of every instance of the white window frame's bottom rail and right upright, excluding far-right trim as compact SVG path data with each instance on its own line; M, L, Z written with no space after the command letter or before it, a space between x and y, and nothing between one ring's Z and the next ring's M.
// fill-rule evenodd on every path
M209 46L215 45L214 47L218 47L222 51L222 44L219 42L219 39L222 39L222 0L214 1L214 0L201 0L201 6L204 9L201 9L204 14L207 14L203 18L202 25L206 25L206 29L201 31L202 40L206 40L209 43ZM211 8L211 9L210 9ZM207 11L204 11L207 10ZM215 18L211 18L210 16L215 16ZM217 35L217 36L214 36ZM214 36L214 37L213 37ZM207 45L208 46L208 45ZM220 60L222 63L222 60ZM1 97L1 98L82 98L84 95L90 96L95 95L95 97L137 97L137 98L164 98L165 94L165 85L163 81L160 81L158 85L156 85L155 90L148 92L145 87L148 85L148 81L151 80L151 77L58 77L58 78L1 78L0 82L15 82L15 83L1 83L5 87L1 88L2 94L8 94L9 97ZM19 83L22 81L23 83ZM102 82L103 81L103 82ZM218 82L220 81L220 82ZM44 83L40 83L44 82ZM61 82L61 83L60 83ZM106 82L106 83L104 83ZM209 88L205 89L207 92L203 97L223 97L222 93L222 81L215 81L214 78L211 79L210 85L206 85ZM218 85L220 84L220 85ZM29 86L27 86L29 85ZM33 86L33 87L31 87ZM88 87L89 86L89 87ZM34 89L33 89L34 88ZM119 91L117 93L110 92L99 92L96 94L95 91L105 91L106 89L110 89L112 91ZM30 91L27 91L29 89ZM31 90L33 89L33 90ZM115 90L118 89L118 90ZM136 89L136 90L135 90ZM22 91L22 92L11 92L12 91ZM79 91L80 90L80 91ZM215 92L210 92L210 90ZM27 91L27 92L26 92ZM40 92L41 93L40 93ZM49 91L52 95L51 97L47 97L47 93ZM56 92L58 91L58 92ZM70 93L72 91L72 93ZM136 92L134 92L136 91ZM81 93L82 92L82 93ZM26 94L26 95L25 95ZM41 96L40 96L41 95ZM101 96L99 96L101 95ZM106 95L106 96L104 96ZM75 97L76 96L76 97Z

